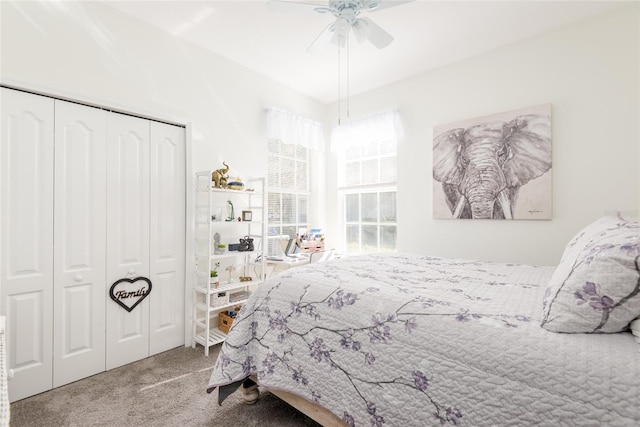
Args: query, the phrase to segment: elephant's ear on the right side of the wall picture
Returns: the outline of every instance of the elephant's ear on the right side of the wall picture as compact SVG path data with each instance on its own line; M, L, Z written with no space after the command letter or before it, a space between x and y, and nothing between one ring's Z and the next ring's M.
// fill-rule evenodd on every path
M503 166L510 187L521 187L551 169L551 119L547 115L518 116L504 125L511 158Z

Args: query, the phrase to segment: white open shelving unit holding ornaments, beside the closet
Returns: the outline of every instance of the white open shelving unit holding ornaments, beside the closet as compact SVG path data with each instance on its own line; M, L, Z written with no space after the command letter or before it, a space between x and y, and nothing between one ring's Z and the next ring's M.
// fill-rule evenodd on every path
M191 346L209 347L225 340L218 328L218 314L242 305L265 277L265 260L260 248L266 242L266 195L264 178L244 181L242 190L214 188L213 171L196 174L195 189L195 285L193 288L193 332ZM233 218L228 210L233 206ZM243 221L243 211L251 212L251 220ZM224 253L216 253L215 236L225 245ZM254 250L230 251L229 245L240 238L253 238ZM217 267L219 285L211 282L210 271ZM227 268L233 266L234 271ZM241 281L242 277L251 277Z

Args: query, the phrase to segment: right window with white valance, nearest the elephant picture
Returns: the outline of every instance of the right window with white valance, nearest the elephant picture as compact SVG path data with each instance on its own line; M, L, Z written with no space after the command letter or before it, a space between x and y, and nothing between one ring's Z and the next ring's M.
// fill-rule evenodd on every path
M334 130L347 253L396 250L399 136L397 112L363 119L338 133Z

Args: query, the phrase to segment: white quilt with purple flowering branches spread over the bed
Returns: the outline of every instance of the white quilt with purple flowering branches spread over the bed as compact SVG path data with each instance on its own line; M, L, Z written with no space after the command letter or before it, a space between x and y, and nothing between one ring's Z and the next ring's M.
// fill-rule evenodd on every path
M540 327L553 267L376 254L262 284L209 390L256 375L352 426L627 426L640 420L629 332Z

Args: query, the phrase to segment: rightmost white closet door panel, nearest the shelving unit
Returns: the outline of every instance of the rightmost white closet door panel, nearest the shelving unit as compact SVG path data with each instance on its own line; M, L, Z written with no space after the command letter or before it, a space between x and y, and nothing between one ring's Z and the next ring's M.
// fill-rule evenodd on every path
M185 133L151 122L150 355L184 344Z

